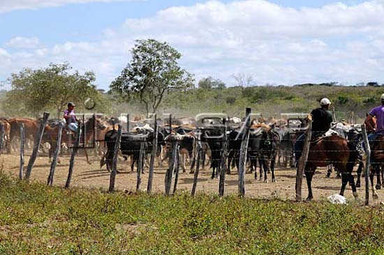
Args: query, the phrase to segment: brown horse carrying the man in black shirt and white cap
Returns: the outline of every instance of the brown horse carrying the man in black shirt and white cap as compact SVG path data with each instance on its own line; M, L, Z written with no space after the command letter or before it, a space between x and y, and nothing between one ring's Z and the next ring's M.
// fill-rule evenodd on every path
M308 185L307 200L313 199L311 183L316 167L327 167L329 164L333 164L341 172L341 196L344 196L346 185L350 183L353 196L357 199L355 178L352 175L356 161L357 151L354 145L348 143L342 137L332 135L330 137L319 137L311 141L308 160L304 170Z

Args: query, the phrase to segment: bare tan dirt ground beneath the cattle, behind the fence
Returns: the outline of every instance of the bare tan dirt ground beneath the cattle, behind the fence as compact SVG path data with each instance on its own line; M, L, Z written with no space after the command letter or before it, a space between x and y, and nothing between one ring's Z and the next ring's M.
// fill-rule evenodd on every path
M66 183L66 178L68 176L69 168L69 156L61 157L61 164L57 164L56 172L54 174L54 185L64 187ZM71 186L81 186L81 187L93 187L101 188L107 190L109 187L110 173L105 169L100 168L100 160L98 157L90 157L92 164L87 164L85 157L82 155L77 155L75 158L75 168L73 173L73 178ZM25 166L27 166L29 161L29 153L25 157ZM20 166L20 156L17 153L12 155L3 154L0 156L0 169L10 173L13 176L18 176ZM155 162L157 166L157 162ZM26 168L26 167L25 167ZM131 172L128 162L119 162L118 169L121 173L117 174L115 188L117 190L128 190L130 192L135 192L137 173ZM44 155L39 155L32 169L31 179L39 182L46 183L47 176L50 171L50 163L48 158ZM155 167L154 171L154 182L152 186L152 191L157 193L164 193L164 178L165 178L165 167ZM327 170L325 168L320 168L316 171L315 176L313 177L313 196L314 200L323 200L327 196L332 194L339 193L341 187L341 179L336 179L335 173L332 173L331 178L325 178ZM204 171L200 170L198 177L197 192L207 192L212 194L219 193L219 179L212 180L211 177L212 171L205 169ZM295 169L276 169L275 170L276 183L272 183L271 176L269 175L269 182L263 183L263 181L255 180L253 173L246 173L246 196L251 198L262 198L270 199L272 197L279 197L281 199L295 199L295 178L296 171ZM235 169L232 170L232 175L226 176L226 185L225 193L226 194L237 194L237 173ZM375 180L376 181L376 180ZM140 190L147 190L148 182L148 169L146 173L142 174L142 184ZM179 174L179 182L177 189L191 191L193 184L193 174L187 173ZM302 185L302 194L303 197L307 197L307 182L304 178ZM362 187L357 189L357 192L360 196L360 199L364 201L365 189L364 189L364 178L362 178ZM173 183L172 183L173 188ZM378 190L379 199L378 202L383 201L383 190ZM347 186L345 192L347 199L353 199L352 192L350 187ZM372 195L370 191L370 199L372 203Z

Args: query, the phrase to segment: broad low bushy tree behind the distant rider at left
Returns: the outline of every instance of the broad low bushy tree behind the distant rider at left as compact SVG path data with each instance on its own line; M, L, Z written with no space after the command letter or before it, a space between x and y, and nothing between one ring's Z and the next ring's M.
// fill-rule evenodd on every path
M68 63L51 63L47 68L24 68L12 74L8 78L12 89L8 91L4 105L34 116L53 108L60 118L68 102L84 102L86 98L97 102L101 95L92 84L94 73L81 75L77 70L71 70Z

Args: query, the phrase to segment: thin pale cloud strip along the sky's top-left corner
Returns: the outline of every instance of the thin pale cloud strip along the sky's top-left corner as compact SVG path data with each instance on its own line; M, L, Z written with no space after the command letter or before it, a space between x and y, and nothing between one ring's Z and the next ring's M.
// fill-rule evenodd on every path
M71 3L112 2L130 0L0 0L0 13L12 10L35 10L38 8L64 6Z

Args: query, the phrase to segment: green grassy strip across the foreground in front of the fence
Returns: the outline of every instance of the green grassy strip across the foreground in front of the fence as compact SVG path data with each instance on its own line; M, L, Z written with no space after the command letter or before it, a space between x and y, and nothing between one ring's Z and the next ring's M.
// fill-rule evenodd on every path
M0 174L0 254L383 254L383 208L64 190Z

